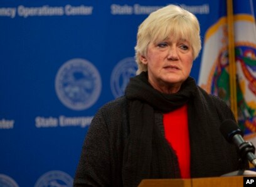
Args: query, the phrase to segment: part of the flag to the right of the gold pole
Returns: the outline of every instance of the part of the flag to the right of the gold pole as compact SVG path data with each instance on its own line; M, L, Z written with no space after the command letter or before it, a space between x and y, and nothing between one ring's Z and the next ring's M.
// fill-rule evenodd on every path
M256 143L256 23L252 0L234 1L238 123ZM253 138L253 136L255 138ZM250 137L250 138L249 138Z

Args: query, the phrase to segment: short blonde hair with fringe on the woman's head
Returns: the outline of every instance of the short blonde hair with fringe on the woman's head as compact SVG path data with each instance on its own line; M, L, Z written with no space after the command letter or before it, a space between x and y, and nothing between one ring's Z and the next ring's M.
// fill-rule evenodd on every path
M198 19L179 6L168 5L151 13L139 26L135 47L137 74L147 71L147 65L142 64L140 56L146 56L149 43L156 44L164 41L170 34L174 38L189 41L193 49L193 59L196 59L201 50Z

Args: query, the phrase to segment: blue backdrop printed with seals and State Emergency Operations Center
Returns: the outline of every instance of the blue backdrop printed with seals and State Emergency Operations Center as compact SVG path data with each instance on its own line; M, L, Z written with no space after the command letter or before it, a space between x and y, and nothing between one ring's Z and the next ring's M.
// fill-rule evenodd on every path
M139 24L181 4L203 41L220 1L1 0L0 186L72 186L93 115L136 73Z

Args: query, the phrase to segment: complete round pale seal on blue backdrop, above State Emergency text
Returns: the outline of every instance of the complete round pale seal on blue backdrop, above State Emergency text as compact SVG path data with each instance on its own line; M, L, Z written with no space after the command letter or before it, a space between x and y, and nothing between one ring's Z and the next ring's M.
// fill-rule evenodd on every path
M56 94L70 109L90 108L99 98L101 88L99 71L85 59L70 59L56 74Z

